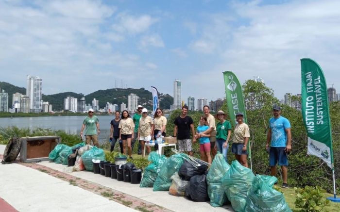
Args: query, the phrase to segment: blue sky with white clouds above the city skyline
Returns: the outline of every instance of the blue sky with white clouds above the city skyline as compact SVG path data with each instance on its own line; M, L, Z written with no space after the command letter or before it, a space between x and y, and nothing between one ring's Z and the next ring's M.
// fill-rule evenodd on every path
M132 87L225 97L223 71L301 93L301 58L340 93L339 0L0 0L0 81L43 93ZM332 85L334 84L334 85Z

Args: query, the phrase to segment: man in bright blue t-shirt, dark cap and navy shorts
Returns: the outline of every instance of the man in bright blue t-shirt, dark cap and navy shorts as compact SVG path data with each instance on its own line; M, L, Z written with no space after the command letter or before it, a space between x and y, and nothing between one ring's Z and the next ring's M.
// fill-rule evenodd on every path
M291 132L289 120L281 116L280 113L280 106L274 105L272 107L274 117L269 120L266 149L269 151L271 175L276 176L276 163L278 162L282 169L282 187L288 188L287 154L291 150Z

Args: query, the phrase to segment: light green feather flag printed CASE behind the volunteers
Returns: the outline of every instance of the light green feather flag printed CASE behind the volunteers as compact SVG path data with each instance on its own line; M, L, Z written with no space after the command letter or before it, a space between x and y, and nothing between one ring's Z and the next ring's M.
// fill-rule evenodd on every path
M238 123L236 120L237 113L243 113L244 123L248 124L247 113L244 107L242 86L239 83L237 76L231 71L224 71L223 77L225 84L225 96L227 99L227 106L231 124L235 126ZM248 157L251 158L252 154L250 150L250 141L248 142L247 146L249 152Z

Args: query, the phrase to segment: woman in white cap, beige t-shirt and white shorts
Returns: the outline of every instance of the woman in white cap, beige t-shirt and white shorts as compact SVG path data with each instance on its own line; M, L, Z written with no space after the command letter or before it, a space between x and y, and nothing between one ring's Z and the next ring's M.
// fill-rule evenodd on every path
M141 151L144 152L145 142L149 143L151 140L151 129L153 127L153 119L148 116L148 110L143 108L142 117L139 119L138 126L138 138L141 144ZM148 154L151 151L151 148L148 147Z

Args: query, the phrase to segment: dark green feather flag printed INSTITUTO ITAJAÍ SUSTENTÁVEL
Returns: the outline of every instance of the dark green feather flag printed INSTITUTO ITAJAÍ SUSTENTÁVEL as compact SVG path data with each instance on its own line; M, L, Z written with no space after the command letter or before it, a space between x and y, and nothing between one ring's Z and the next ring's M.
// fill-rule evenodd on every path
M321 67L301 59L302 115L308 135L307 154L315 155L333 168L333 149L327 84Z

